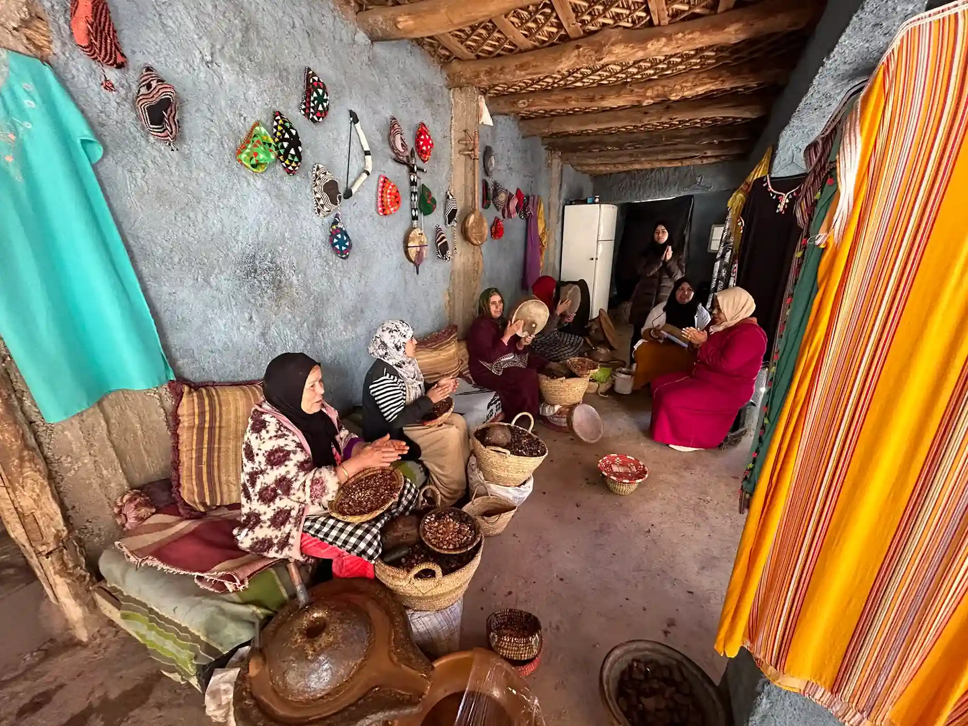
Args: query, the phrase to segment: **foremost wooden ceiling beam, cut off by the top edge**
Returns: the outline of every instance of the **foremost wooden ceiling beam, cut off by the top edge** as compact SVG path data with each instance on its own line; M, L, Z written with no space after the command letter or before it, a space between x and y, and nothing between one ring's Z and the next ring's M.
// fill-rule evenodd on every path
M506 15L533 2L534 0L417 0L407 5L380 6L357 13L356 23L371 41L428 38L489 20L496 15Z

